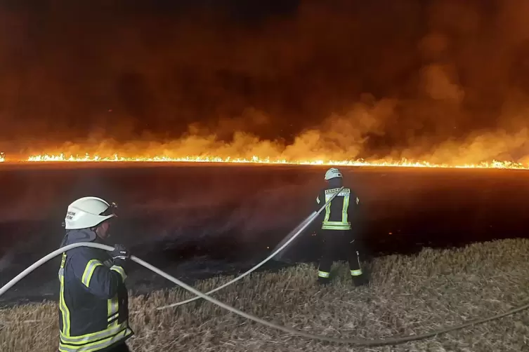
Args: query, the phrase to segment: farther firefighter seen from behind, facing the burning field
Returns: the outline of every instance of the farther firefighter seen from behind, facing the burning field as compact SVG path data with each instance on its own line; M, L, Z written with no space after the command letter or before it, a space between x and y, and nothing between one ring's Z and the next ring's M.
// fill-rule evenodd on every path
M325 182L327 187L320 191L316 198L315 208L321 206L336 193L343 185L343 177L340 170L330 168L325 172ZM325 207L325 212L320 215L321 227L318 229L322 235L323 253L318 268L318 282L327 284L330 280L330 271L335 252L338 248L348 246L348 262L353 283L363 285L365 278L360 259L358 257L358 247L355 237L359 232L359 210L360 200L355 192L344 187L340 193ZM320 222L318 222L320 224ZM351 224L353 224L351 226Z

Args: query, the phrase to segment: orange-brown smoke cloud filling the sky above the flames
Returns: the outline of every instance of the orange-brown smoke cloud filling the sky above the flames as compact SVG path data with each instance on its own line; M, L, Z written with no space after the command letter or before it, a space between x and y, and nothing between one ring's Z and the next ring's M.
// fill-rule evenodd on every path
M527 1L198 2L4 6L0 148L529 155Z

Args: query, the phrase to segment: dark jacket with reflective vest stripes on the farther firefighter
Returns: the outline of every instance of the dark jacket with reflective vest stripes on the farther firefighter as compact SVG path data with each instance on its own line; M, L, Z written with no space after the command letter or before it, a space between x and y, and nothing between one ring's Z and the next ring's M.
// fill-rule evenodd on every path
M341 187L341 180L329 180L329 187L322 189L316 198L315 210L323 204ZM340 193L325 207L325 212L320 213L321 229L324 230L351 230L351 222L355 223L360 211L360 200L355 192L344 187Z

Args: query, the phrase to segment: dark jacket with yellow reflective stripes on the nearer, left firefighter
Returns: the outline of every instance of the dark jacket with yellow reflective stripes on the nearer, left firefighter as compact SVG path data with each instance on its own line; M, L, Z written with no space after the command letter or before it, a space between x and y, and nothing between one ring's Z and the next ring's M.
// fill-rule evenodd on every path
M70 230L61 247L78 242L99 241L89 229ZM97 248L78 247L63 254L59 269L59 351L100 351L133 335L123 266Z

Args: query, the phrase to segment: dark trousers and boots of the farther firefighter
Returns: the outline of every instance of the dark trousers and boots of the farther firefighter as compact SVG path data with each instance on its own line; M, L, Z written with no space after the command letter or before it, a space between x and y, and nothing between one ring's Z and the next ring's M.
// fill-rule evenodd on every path
M337 259L337 252L340 248L347 247L347 259L349 270L355 285L363 285L365 278L362 268L360 267L360 258L358 257L358 246L353 241L351 230L320 230L323 240L323 252L318 268L318 281L320 283L329 283L331 266L334 259Z

